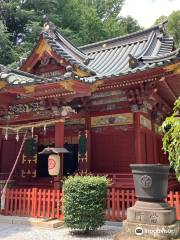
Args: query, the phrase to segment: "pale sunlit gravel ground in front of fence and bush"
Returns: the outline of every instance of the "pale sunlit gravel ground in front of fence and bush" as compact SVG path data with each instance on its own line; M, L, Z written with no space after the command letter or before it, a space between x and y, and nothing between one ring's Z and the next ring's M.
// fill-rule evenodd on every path
M0 224L0 239L3 240L112 240L120 230L120 223L106 223L99 230L83 235L70 229L42 229L16 224Z

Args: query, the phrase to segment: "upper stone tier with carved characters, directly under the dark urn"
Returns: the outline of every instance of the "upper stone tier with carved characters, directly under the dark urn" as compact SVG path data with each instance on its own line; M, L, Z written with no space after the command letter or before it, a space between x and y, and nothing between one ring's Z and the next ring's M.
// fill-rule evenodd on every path
M137 201L127 209L127 219L138 224L172 225L176 222L176 212L165 202Z

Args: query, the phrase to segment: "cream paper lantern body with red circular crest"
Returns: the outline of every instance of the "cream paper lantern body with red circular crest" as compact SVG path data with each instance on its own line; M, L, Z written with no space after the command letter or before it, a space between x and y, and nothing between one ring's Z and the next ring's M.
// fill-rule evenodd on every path
M60 171L60 156L58 154L51 154L48 157L48 172L51 176L59 175Z

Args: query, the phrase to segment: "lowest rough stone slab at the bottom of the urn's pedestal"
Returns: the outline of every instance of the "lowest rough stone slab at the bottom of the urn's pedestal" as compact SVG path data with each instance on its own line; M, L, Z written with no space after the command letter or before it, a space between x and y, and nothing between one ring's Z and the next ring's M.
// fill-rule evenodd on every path
M123 222L123 229L114 240L172 240L180 238L180 222L172 225L137 224Z

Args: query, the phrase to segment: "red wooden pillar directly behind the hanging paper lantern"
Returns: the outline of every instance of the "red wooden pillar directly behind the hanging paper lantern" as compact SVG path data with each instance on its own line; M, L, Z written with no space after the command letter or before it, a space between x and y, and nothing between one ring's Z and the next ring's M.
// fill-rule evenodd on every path
M55 147L64 147L64 122L55 124ZM60 189L63 177L63 154L60 155L60 173L54 177L54 189Z

